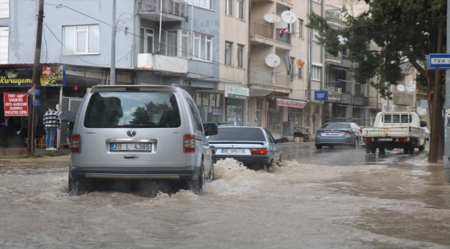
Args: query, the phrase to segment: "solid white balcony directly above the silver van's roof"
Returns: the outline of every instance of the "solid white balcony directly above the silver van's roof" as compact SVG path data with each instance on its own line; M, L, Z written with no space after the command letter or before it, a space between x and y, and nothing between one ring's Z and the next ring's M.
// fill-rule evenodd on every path
M170 73L188 73L188 59L165 55L138 54L138 69L166 71Z

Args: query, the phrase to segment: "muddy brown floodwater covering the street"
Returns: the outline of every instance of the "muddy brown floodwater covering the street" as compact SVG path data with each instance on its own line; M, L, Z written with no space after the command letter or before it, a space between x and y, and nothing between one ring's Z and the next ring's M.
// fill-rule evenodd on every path
M199 196L69 196L68 156L0 159L0 248L450 248L450 185L424 154L281 147L271 174L219 161Z

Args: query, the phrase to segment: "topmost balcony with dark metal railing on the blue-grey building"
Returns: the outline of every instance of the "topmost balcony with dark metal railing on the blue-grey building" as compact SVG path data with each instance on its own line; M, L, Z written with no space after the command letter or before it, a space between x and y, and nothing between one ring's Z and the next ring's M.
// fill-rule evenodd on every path
M181 0L139 0L139 14L144 19L159 21L161 10L165 21L183 21L188 18L188 3Z

